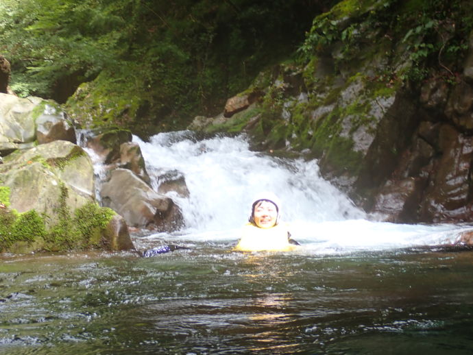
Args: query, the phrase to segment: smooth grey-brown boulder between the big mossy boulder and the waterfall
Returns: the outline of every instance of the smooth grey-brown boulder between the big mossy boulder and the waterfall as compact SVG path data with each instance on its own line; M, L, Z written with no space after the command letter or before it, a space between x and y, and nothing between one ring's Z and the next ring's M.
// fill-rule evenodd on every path
M127 169L115 169L100 192L102 204L117 211L128 225L172 232L182 226L182 215L172 199L156 193Z

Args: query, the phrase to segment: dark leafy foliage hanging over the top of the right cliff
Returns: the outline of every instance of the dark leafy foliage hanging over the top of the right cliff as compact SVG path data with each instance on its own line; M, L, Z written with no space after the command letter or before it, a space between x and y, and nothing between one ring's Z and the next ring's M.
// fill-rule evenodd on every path
M400 69L395 79L420 82L428 68L435 66L450 77L455 76L468 49L472 29L471 1L344 0L315 18L298 51L301 59L309 62L314 55L333 54L335 46L335 66L343 66L369 54L369 47L364 46L367 40L376 41L378 46L371 47L391 52L391 58L395 60L399 53L389 45L398 45L402 52L409 53L409 58L397 59L407 65ZM382 42L386 42L387 47L379 47ZM376 53L369 55L376 56Z

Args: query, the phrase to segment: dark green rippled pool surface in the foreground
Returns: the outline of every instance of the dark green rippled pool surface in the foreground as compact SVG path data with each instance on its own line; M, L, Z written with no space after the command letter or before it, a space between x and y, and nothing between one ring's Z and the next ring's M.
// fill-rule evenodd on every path
M473 354L473 253L0 258L0 354Z

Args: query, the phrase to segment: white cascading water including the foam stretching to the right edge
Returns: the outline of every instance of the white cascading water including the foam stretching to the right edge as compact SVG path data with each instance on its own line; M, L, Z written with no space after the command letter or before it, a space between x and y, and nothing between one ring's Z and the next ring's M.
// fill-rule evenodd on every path
M453 225L400 225L367 221L365 214L320 175L317 161L274 158L251 151L244 136L199 140L189 131L162 133L149 143L138 137L157 190L169 171L184 175L189 198L169 193L186 227L181 238L237 240L254 196L273 191L282 218L304 252L340 253L452 243ZM465 227L466 228L466 227ZM152 238L153 236L151 236Z

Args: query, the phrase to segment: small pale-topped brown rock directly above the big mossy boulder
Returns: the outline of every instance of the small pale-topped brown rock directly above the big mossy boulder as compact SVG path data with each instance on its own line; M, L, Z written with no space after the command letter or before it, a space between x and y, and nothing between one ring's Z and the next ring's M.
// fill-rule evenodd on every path
M77 143L74 127L66 121L64 112L49 104L45 104L43 113L36 119L36 138L38 144L50 143L53 140Z

